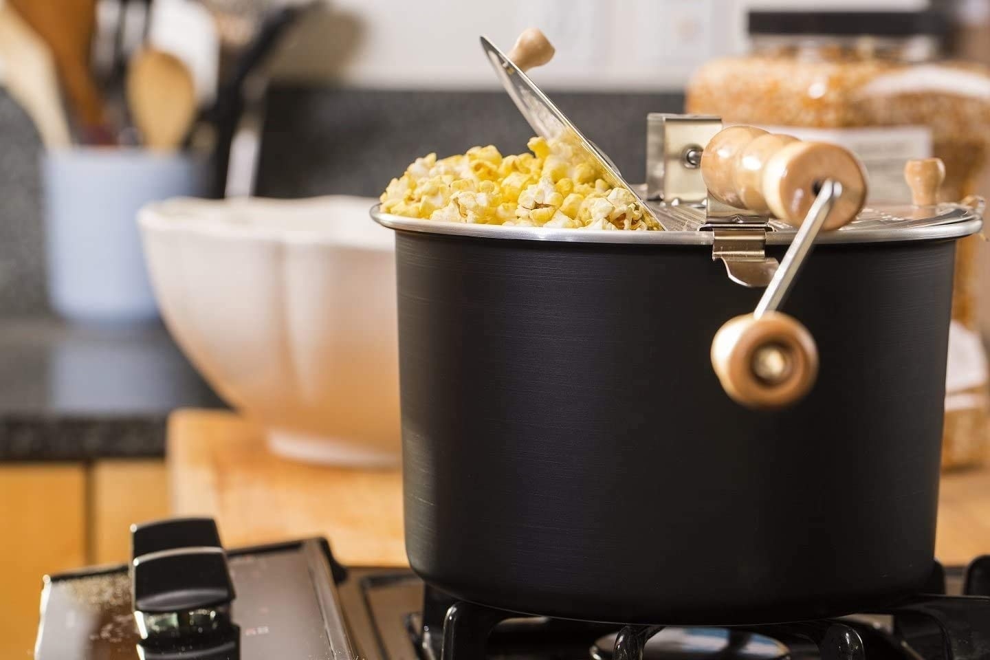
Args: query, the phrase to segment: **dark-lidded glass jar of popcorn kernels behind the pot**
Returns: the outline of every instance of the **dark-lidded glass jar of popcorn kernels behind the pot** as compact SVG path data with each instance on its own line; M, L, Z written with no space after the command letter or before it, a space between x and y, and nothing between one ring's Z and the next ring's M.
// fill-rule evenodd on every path
M687 88L687 112L719 115L802 140L833 141L857 153L871 202L904 202L904 163L939 156L941 199L976 192L990 148L990 72L940 59L944 17L934 12L769 12L749 14L750 51L705 64ZM953 327L978 334L977 257L980 238L957 248ZM968 334L965 334L968 333ZM984 362L979 342L971 359ZM966 357L965 359L970 359ZM971 374L970 374L971 375ZM986 376L946 410L943 462L978 462L986 452L990 415ZM967 406L953 401L970 402Z

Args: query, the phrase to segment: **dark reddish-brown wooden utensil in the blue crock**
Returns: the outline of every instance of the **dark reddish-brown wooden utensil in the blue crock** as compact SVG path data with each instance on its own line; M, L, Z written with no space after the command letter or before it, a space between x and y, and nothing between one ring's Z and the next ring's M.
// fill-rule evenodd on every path
M84 127L104 123L103 99L89 70L96 0L7 0L45 40L74 115Z

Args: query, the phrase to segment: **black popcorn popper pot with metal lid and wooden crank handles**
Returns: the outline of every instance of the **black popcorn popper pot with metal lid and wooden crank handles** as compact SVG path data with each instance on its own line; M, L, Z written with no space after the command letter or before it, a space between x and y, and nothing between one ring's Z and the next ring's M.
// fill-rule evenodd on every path
M552 52L539 35L482 45L539 135L629 187L523 72ZM954 241L982 210L935 203L939 166L909 164L913 205L862 208L838 146L650 115L632 190L665 231L372 210L396 236L413 569L466 601L631 623L921 590Z

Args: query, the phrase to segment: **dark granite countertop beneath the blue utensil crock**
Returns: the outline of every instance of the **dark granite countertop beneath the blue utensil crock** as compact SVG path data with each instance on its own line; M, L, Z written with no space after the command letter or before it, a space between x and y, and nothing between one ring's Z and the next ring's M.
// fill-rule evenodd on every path
M180 407L223 403L160 322L0 318L0 461L163 456Z

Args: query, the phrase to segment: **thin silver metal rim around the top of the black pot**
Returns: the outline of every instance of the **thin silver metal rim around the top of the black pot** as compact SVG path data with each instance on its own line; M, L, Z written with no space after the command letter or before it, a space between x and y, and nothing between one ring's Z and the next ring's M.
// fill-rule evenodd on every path
M891 226L874 226L869 229L857 228L853 224L836 232L823 232L816 238L815 242L848 244L948 240L976 234L983 227L983 220L970 207L961 204L940 204L936 208L939 211L938 215L930 217L935 224L897 227L897 221L894 221L891 223ZM885 214L890 213L894 209L903 211L905 209L914 209L914 207L877 207L874 210L880 214ZM382 213L381 204L371 207L370 213L374 222L390 230L397 232L416 232L420 234L442 234L446 236L644 245L711 245L714 239L712 232L703 231L621 232L447 223ZM908 223L912 221L903 222ZM776 223L772 229L773 231L766 234L766 244L768 245L787 245L796 234L793 229Z

